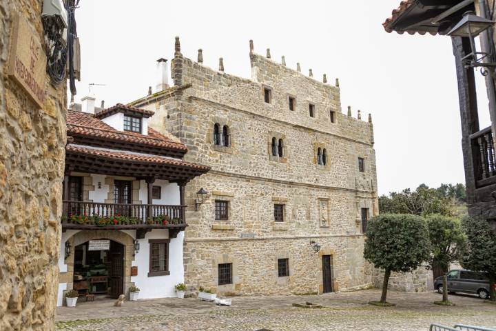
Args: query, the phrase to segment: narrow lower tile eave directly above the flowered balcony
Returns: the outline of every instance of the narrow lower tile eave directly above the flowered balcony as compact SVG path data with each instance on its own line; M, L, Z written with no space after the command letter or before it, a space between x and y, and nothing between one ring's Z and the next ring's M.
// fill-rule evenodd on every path
M147 154L134 154L130 152L118 151L118 150L107 150L101 148L90 148L87 146L69 144L65 146L65 150L68 152L76 152L79 154L94 155L98 157L106 157L109 159L120 159L124 161L136 161L145 163L161 163L167 165L176 165L179 167L193 168L200 170L201 172L207 172L210 167L207 165L199 165L196 163L191 163L183 161L180 159L174 159L172 157L160 157L158 155L147 155Z

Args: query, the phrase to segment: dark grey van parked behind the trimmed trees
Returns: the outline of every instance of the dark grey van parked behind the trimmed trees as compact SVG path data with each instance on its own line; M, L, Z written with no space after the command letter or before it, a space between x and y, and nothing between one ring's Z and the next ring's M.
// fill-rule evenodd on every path
M447 274L448 292L477 294L481 299L489 297L489 279L483 272L471 270L451 270ZM442 276L434 280L434 288L437 292L443 292Z

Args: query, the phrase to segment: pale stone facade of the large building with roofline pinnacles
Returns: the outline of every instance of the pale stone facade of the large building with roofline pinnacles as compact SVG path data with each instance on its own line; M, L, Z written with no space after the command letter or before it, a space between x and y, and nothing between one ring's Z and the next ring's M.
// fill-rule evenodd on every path
M361 208L378 212L371 120L342 114L338 86L253 50L250 60L252 78L235 77L183 57L176 40L175 86L130 103L153 110L149 126L185 143L186 159L211 167L186 188L185 281L220 294L322 292L321 257L331 255L333 290L371 283L361 225ZM229 128L228 146L214 144L216 123ZM284 141L282 157L272 138ZM209 194L196 211L200 188ZM228 201L227 220L216 220L215 201ZM274 221L274 204L284 221ZM278 277L278 259L289 259L289 277ZM219 263L232 263L231 284L218 285Z

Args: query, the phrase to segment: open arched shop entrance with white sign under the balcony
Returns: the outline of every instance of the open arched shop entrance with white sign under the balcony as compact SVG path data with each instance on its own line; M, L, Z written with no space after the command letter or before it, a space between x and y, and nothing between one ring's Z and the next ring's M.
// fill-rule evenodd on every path
M95 239L74 248L73 288L80 297L117 299L124 294L124 245Z

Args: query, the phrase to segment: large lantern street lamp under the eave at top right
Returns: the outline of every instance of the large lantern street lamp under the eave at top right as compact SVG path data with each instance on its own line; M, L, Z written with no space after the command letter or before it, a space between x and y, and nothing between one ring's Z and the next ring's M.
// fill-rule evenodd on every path
M467 54L462 58L462 61L466 63L468 67L495 67L496 63L484 63L482 60L488 56L486 52L477 52L475 47L475 37L477 37L481 32L484 32L490 26L493 26L495 21L490 19L484 19L484 17L479 17L475 12L466 12L462 19L456 23L456 25L448 32L448 36L451 37L465 37L470 39L471 43L471 54ZM487 72L482 71L482 74L486 76Z

